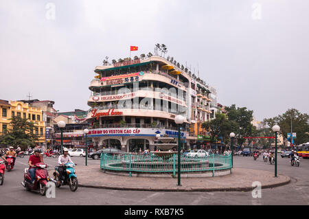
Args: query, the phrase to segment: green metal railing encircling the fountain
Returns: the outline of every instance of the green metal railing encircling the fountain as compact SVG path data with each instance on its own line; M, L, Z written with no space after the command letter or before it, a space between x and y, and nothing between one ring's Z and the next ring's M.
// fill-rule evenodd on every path
M212 172L227 170L232 167L231 154L209 154L207 157L186 157L181 154L181 172ZM136 173L171 173L178 170L178 156L170 154L157 157L155 154L101 154L100 168L119 172Z

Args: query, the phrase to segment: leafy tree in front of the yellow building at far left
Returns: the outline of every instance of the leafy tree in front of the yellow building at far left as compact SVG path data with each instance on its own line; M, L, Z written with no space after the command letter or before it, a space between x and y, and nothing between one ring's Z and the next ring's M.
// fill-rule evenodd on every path
M38 135L34 133L36 126L31 121L21 117L10 118L10 126L4 135L0 137L0 143L9 146L34 147L38 141Z

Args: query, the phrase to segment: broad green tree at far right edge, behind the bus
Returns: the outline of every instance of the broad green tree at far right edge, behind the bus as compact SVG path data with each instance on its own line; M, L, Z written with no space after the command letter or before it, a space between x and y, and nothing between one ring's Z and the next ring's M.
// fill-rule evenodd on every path
M270 128L275 124L280 126L280 132L287 138L288 132L296 132L295 144L306 143L309 141L309 115L307 113L300 113L295 108L288 109L286 113L278 115L277 117L264 119L264 123Z

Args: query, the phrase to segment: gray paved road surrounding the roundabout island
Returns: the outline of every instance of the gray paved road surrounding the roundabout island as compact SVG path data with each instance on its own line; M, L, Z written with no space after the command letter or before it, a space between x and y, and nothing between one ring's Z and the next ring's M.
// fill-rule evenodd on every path
M289 164L288 158L279 157L278 173L290 176L292 182L262 189L262 198L253 198L251 192L136 192L84 187L71 192L68 186L56 189L56 198L46 198L21 186L27 159L17 158L14 170L5 172L0 205L309 205L309 159L301 158L297 168ZM72 159L84 165L84 158ZM46 158L45 163L53 168L57 159ZM88 163L99 165L100 161L89 159ZM264 163L262 157L257 161L252 157L234 157L234 166L274 172L274 165Z

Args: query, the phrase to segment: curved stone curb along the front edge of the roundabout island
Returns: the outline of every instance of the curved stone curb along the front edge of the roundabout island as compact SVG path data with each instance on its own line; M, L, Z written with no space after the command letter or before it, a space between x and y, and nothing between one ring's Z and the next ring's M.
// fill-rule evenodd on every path
M290 183L290 177L286 176L287 179L281 183L274 183L268 185L262 185L262 189L268 189L273 187L279 187ZM254 187L217 187L217 188L170 188L170 189L157 189L157 188L133 188L133 187L113 187L104 185L87 185L80 184L80 187L89 187L95 189L115 189L115 190L130 190L130 191L152 191L152 192L249 192Z

